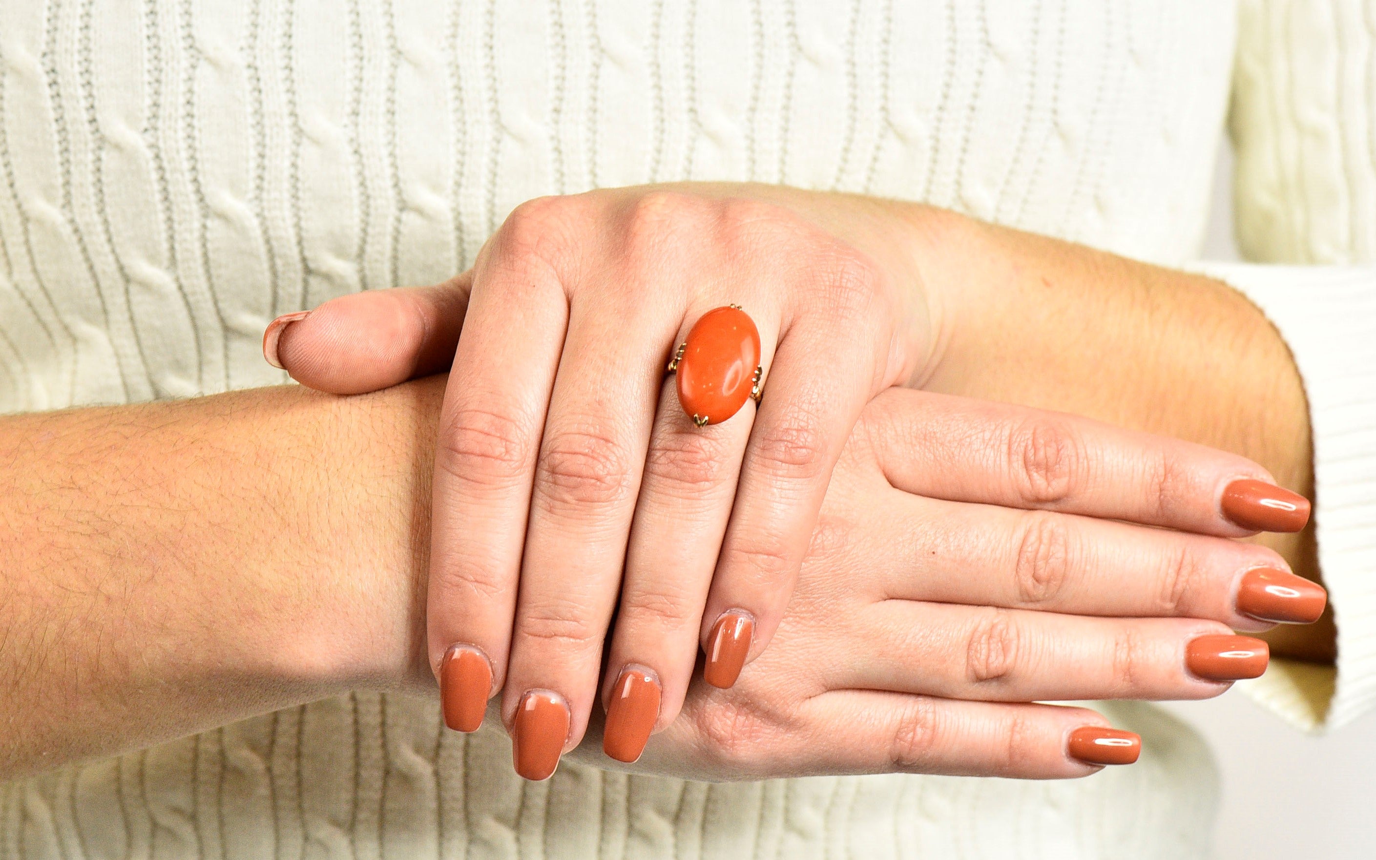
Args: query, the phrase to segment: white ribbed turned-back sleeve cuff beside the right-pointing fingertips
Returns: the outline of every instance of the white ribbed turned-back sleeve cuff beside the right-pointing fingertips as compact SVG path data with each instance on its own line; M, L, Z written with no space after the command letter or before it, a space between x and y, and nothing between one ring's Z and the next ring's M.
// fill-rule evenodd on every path
M1306 729L1376 706L1376 267L1210 264L1251 299L1295 356L1314 440L1320 571L1337 623L1336 670L1274 660L1243 684Z

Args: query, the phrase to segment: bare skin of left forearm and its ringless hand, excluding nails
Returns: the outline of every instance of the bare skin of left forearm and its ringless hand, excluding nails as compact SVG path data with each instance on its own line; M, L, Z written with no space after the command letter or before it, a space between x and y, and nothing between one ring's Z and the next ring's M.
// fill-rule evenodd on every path
M0 779L347 689L433 695L424 594L444 383L0 420ZM1105 468L1064 482L991 457L989 433L1062 435ZM1165 475L1179 483L1163 497ZM1101 717L1020 702L1226 689L1189 676L1186 643L1249 623L1237 581L1280 559L1113 520L1236 534L1216 506L1236 476L1265 472L1069 416L881 395L839 458L769 660L739 689L695 687L637 768L1093 772L1065 742ZM1064 493L1036 504L1055 510L1009 508L1049 477ZM1020 566L1029 533L1076 552ZM578 754L596 749L594 732Z

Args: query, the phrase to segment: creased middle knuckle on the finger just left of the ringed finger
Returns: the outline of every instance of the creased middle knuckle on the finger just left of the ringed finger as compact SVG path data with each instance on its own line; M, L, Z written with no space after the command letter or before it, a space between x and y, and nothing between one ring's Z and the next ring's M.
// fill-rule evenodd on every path
M564 429L545 439L537 495L556 506L614 505L632 491L630 457L600 429Z

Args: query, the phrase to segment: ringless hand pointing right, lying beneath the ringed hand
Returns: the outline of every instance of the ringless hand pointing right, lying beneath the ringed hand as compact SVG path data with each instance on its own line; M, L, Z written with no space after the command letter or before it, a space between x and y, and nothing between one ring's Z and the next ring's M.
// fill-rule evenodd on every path
M332 318L303 327L296 347L318 351ZM355 366L367 332L333 355L337 367ZM637 768L698 779L1086 773L1066 757L1069 732L1104 720L1018 702L1216 695L1226 681L1197 673L1265 667L1265 645L1229 627L1322 611L1322 589L1270 550L1109 522L1244 534L1223 515L1238 479L1267 476L1230 454L1069 416L888 391L832 476L779 645L729 694L700 684L688 718ZM645 713L614 722L604 743L638 749L669 722ZM1091 757L1134 750L1076 739ZM605 765L593 747L578 754Z

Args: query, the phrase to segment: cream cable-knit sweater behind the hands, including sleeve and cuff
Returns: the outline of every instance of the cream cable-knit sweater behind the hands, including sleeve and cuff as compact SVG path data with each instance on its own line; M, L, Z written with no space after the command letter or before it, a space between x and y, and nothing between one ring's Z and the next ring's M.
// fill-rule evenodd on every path
M0 0L0 409L283 381L274 315L594 186L846 189L1183 264L1230 98L1247 253L1372 261L1373 62L1359 0ZM1212 271L1304 377L1339 625L1336 676L1252 691L1342 722L1376 700L1376 274ZM358 694L0 784L0 857L1203 856L1207 750L1105 709L1146 753L1077 782L534 784L499 731Z

